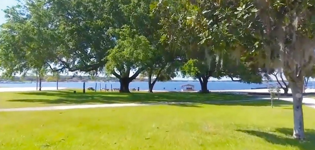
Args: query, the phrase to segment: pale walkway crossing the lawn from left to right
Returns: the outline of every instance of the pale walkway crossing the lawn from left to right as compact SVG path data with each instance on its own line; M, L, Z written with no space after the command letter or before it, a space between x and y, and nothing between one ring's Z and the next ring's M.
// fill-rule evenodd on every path
M245 99L245 100L231 100L231 101L211 101L204 103L228 103L228 102L248 102L255 100L262 100L269 98L256 98L256 99ZM281 98L281 100L292 102L292 98ZM315 99L303 98L303 103L306 106L315 109ZM125 103L125 104L91 104L91 105L66 105L66 106L48 106L48 107L26 107L26 108L8 108L0 109L1 111L40 111L40 110L68 110L68 109L83 109L83 108L101 108L101 107L126 107L126 106L147 106L147 105L158 105L158 104L198 104L198 103L188 103L188 102L159 102L159 103Z

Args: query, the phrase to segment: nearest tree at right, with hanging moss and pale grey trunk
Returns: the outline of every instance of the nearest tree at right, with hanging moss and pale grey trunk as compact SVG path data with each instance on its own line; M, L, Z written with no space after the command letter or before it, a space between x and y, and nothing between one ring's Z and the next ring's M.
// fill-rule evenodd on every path
M260 67L283 68L294 98L294 137L304 139L303 81L314 61L314 3L312 0L162 0L162 39L182 45L185 39L206 45L217 56L236 59L249 54ZM192 36L185 36L192 35ZM187 41L187 40L186 40ZM271 66L272 65L272 66Z

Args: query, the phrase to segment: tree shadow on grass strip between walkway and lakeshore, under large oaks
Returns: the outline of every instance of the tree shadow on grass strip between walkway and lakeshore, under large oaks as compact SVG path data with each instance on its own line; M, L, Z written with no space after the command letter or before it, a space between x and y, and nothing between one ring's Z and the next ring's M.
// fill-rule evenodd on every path
M89 103L156 103L156 102L192 102L225 101L248 99L249 96L233 94L199 94L199 93L118 93L87 92L74 94L72 90L21 92L25 99L12 99L15 102L36 102L48 104L89 104ZM28 96L27 96L28 95ZM31 98L29 96L32 96ZM38 96L38 97L37 97Z

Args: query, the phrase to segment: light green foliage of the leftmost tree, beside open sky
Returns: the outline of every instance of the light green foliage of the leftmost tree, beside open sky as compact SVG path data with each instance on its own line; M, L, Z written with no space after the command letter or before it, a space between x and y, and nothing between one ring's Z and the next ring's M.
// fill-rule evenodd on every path
M27 9L18 5L4 11L8 19L0 32L0 62L4 76L46 69L53 61L54 31L48 28L50 17L44 12L45 4L36 2L26 1Z

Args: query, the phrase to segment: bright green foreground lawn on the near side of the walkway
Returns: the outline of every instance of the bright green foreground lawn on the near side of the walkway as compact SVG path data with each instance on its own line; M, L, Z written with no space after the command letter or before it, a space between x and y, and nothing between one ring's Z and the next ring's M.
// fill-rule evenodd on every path
M306 142L291 138L291 103L0 112L2 150L312 150L315 110L304 107Z

